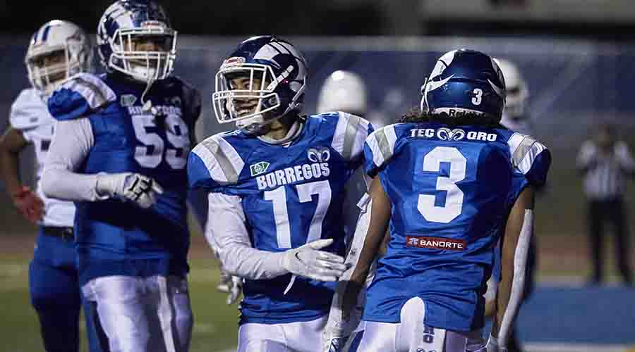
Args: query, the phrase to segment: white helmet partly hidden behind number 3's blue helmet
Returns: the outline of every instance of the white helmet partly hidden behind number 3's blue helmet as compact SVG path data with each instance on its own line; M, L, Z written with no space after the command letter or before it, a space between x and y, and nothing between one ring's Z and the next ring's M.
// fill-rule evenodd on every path
M521 74L518 66L512 61L503 58L494 59L505 77L507 87L507 100L505 101L505 113L512 118L524 118L525 108L529 99L527 82Z

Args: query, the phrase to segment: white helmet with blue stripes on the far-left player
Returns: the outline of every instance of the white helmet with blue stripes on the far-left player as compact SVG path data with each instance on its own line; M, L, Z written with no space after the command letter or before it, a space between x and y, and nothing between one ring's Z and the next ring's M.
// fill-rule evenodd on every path
M60 62L54 58L56 53ZM92 46L74 23L52 20L33 34L24 61L29 82L47 99L68 77L90 70Z

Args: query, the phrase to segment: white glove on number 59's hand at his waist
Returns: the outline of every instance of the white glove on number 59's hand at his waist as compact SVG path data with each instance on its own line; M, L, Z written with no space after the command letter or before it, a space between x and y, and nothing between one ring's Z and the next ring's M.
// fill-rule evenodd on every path
M141 208L150 208L163 193L155 180L132 172L98 174L95 188L100 196L120 197L137 203Z

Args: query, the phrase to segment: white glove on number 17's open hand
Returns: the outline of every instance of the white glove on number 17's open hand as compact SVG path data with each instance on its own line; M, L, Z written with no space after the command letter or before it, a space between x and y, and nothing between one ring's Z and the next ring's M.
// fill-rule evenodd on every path
M282 268L294 275L319 281L337 281L344 274L344 258L320 251L333 243L333 239L318 239L296 249L284 252Z

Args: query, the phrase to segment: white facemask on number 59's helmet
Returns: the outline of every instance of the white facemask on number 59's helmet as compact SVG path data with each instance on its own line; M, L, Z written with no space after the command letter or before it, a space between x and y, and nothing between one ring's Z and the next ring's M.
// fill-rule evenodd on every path
M176 59L176 31L156 21L140 28L118 29L109 39L112 54L109 67L140 82L163 80ZM144 45L152 42L152 50ZM142 46L138 49L138 46Z

